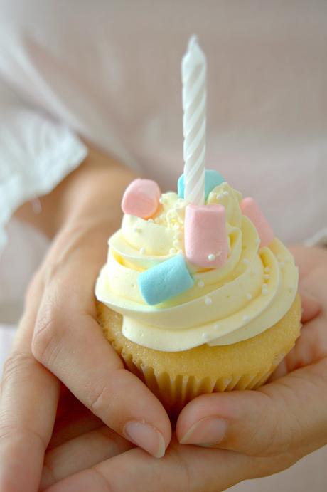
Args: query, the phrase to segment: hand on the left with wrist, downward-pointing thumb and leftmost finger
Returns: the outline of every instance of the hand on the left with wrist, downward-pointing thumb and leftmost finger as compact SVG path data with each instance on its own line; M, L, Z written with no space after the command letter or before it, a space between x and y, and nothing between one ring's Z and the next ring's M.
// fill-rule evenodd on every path
M107 238L119 226L120 199L131 179L118 164L103 162L97 168L97 162L77 169L70 178L73 188L55 202L58 209L69 202L70 214L28 289L4 367L1 491L38 490L60 381L105 425L149 453L162 456L171 439L164 407L124 370L95 319L95 279L105 261Z

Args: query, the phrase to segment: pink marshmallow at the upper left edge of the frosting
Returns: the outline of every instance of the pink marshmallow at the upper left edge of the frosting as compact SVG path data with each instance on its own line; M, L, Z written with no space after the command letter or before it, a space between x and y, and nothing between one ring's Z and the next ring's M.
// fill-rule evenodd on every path
M160 188L155 181L134 179L125 189L122 211L124 214L149 219L158 209L160 195Z

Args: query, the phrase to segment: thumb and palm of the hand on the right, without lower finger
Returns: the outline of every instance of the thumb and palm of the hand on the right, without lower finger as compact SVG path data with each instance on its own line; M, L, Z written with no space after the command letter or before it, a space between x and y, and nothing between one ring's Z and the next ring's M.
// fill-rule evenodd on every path
M327 251L297 247L300 290L306 299L301 336L269 384L257 391L202 395L177 422L184 444L217 446L265 463L271 474L327 444ZM315 317L316 316L316 317Z

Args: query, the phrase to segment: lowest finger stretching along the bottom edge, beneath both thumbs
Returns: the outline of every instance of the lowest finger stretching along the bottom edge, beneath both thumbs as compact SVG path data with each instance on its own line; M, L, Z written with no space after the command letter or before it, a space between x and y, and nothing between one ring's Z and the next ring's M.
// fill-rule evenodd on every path
M169 446L166 456L154 459L132 449L48 488L46 492L223 491L260 473L248 456L195 446Z

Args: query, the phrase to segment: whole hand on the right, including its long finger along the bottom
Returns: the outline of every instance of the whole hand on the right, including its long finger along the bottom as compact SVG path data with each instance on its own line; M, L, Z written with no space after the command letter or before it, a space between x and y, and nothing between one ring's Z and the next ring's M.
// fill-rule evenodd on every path
M84 470L71 467L69 472L66 466L67 478L47 492L223 491L285 469L325 444L327 308L321 285L327 253L307 248L294 253L300 265L304 326L272 382L254 392L203 395L188 404L178 419L177 436L189 439L193 427L193 444L198 446L180 444L173 436L160 460L129 449ZM196 434L196 424L203 434ZM62 451L59 446L57 456Z

